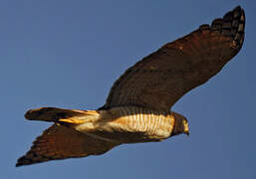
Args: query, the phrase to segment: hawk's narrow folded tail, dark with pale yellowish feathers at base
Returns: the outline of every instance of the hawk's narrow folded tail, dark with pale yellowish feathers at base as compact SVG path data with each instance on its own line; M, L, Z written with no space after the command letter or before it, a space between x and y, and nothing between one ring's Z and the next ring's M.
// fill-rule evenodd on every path
M30 109L25 113L29 120L53 121L58 123L80 124L98 118L96 110L75 110L57 107L41 107Z

